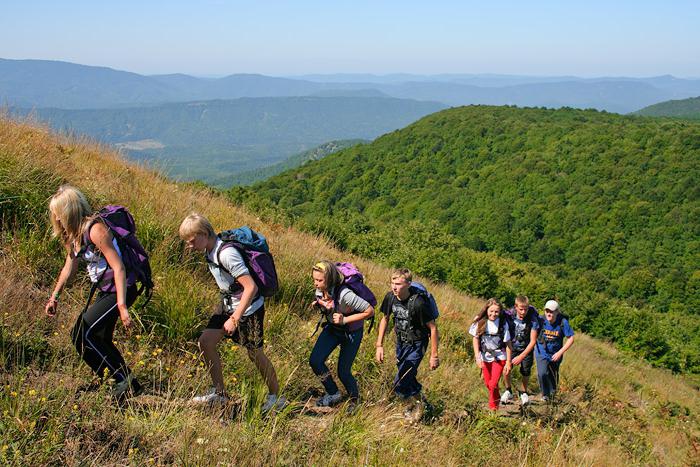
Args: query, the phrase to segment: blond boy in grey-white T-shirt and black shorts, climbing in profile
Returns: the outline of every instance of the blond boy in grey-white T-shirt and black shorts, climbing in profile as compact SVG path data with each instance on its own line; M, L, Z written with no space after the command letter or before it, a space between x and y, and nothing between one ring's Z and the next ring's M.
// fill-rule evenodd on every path
M287 401L278 395L277 374L263 350L264 297L246 266L243 253L238 247L224 242L214 232L209 220L198 213L192 213L182 221L179 234L188 249L204 253L209 272L221 292L221 300L199 337L199 348L214 387L206 394L192 398L192 402L212 405L228 401L221 357L216 349L223 338L228 338L245 347L248 358L265 380L268 395L262 411L283 408Z

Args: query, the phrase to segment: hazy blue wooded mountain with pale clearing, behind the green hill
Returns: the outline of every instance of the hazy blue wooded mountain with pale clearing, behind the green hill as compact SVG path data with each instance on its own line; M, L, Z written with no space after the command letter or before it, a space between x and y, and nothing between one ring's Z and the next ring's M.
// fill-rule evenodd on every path
M55 129L121 145L173 177L216 182L327 141L373 139L443 108L394 98L269 97L32 114Z

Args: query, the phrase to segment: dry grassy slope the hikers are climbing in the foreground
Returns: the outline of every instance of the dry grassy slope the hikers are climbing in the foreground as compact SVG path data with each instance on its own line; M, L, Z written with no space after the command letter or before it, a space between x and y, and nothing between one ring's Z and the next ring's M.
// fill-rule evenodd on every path
M141 326L116 341L149 395L118 409L107 389L79 393L89 381L68 338L82 308L79 280L61 297L55 319L43 304L61 263L50 240L46 201L60 183L80 187L95 206L130 207L152 252L154 298L134 308ZM300 413L319 387L307 359L316 317L309 267L318 258L356 261L377 293L388 270L341 253L312 235L262 223L222 196L168 182L114 153L0 120L0 462L11 465L689 465L700 446L698 387L681 376L630 360L579 335L561 375L562 403L524 416L486 413L486 391L471 363L468 320L480 306L446 286L431 286L443 309L442 365L421 370L434 411L405 426L389 397L394 367L373 361L364 340L355 372L363 403L353 415ZM222 346L224 374L238 403L196 409L183 400L204 389L195 337L217 292L201 258L176 237L196 209L223 228L250 224L268 234L282 279L269 302L266 351L277 367L288 410L263 418L265 389L241 349ZM84 274L81 275L84 277ZM375 331L376 332L376 331ZM393 339L393 338L392 338ZM387 361L391 362L391 357Z

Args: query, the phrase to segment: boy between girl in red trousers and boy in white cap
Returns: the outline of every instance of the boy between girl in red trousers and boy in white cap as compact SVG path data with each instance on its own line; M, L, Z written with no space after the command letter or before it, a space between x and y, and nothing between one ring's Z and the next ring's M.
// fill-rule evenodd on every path
M530 403L528 382L534 362L537 332L540 328L539 314L537 309L530 305L530 300L525 295L518 295L515 297L515 306L510 310L506 310L505 315L513 346L512 363L514 367L520 367L520 376L522 378L522 385L519 390L520 404L526 406ZM503 375L506 389L501 396L501 404L507 404L513 400L511 378L512 373Z

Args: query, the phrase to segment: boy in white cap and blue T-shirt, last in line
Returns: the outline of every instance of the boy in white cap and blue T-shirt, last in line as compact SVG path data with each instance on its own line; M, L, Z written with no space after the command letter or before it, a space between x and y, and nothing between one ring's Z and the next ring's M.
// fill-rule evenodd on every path
M557 301L548 300L544 304L544 316L540 317L540 331L535 347L537 379L545 402L551 402L556 394L559 367L564 354L573 344L574 330L571 329L569 320L559 310Z

